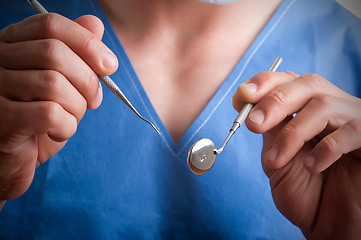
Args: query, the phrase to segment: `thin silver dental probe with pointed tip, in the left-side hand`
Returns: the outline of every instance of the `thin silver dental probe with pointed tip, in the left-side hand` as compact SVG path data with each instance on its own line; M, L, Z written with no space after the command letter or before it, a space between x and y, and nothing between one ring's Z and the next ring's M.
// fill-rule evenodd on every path
M37 13L48 13L48 11L37 1L37 0L27 0L29 4L34 8ZM98 75L99 79L107 86L115 95L117 95L120 100L122 100L140 119L149 123L154 130L160 135L160 132L155 127L153 123L145 119L139 112L133 107L131 102L126 98L124 93L119 89L119 87L114 83L114 81L109 76Z

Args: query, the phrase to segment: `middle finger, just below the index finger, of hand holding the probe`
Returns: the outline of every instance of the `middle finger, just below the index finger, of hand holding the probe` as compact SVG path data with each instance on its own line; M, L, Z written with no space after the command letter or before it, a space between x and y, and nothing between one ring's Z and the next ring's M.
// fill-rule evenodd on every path
M102 91L97 75L64 43L54 39L20 42L1 45L0 52L0 65L4 68L57 71L84 96L88 108L100 105Z

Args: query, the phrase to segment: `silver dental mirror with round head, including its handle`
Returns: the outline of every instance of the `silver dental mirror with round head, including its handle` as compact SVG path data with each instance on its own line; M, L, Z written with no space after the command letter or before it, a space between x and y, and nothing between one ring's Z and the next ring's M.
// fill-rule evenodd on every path
M282 58L277 57L268 71L275 72L281 64L282 60ZM216 149L216 145L213 143L213 141L207 138L198 140L192 145L188 151L187 163L188 167L193 173L202 175L213 167L213 164L216 161L216 156L224 150L233 134L247 118L252 107L252 103L246 103L244 105L237 118L234 120L226 140L224 140L222 146L219 149Z

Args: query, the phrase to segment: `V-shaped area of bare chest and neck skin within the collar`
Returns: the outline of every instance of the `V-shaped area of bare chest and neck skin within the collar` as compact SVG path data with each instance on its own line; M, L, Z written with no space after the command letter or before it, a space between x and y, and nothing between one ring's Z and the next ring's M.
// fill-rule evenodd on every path
M204 109L280 0L100 0L175 143ZM196 67L195 67L196 66Z

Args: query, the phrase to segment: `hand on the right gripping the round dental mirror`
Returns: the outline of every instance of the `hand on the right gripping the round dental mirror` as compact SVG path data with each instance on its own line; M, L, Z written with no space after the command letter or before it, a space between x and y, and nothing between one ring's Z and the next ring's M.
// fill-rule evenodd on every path
M279 211L309 239L359 239L361 99L316 74L262 72L238 88L244 102Z

